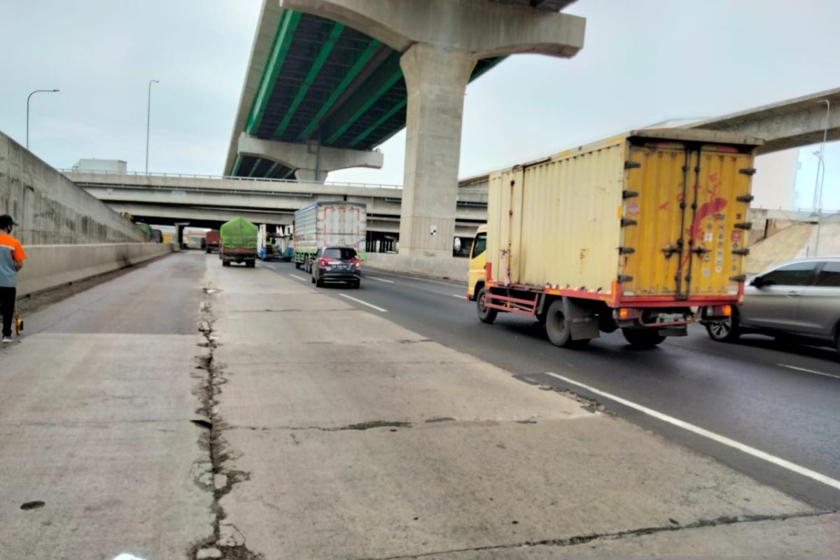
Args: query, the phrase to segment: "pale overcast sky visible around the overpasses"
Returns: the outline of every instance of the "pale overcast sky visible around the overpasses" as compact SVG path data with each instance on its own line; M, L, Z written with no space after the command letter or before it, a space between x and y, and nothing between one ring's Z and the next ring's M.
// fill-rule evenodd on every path
M375 0L370 0L371 2ZM409 0L406 0L409 1ZM219 174L260 0L0 0L0 130L65 168L80 158ZM585 47L570 60L513 56L470 84L459 175L532 160L670 118L711 117L840 86L836 0L578 0ZM837 107L840 110L840 107ZM382 170L330 181L402 184L404 133ZM813 149L797 190L810 204ZM840 144L825 204L840 208ZM759 166L760 173L760 166Z

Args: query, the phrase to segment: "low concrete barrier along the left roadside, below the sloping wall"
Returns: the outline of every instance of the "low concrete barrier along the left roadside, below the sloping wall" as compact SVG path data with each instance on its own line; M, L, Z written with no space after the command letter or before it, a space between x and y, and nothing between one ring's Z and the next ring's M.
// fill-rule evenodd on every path
M18 296L66 285L169 254L169 243L29 245L18 275Z

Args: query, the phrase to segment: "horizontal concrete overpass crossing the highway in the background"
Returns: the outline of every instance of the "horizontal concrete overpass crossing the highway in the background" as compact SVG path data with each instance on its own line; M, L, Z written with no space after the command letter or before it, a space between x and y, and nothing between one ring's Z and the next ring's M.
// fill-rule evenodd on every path
M234 216L286 225L297 209L313 201L346 200L365 202L372 235L396 237L400 229L402 188L397 186L71 170L64 174L117 212L161 225L186 221L218 228ZM455 235L471 238L485 222L486 211L486 186L465 183L458 189Z

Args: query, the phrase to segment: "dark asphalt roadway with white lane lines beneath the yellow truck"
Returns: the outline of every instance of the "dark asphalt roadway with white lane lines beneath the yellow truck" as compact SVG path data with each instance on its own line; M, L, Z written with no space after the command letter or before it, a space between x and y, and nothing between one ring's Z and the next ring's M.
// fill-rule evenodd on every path
M259 265L309 282L292 264ZM812 505L840 509L840 360L830 348L780 345L759 335L715 343L699 325L690 327L688 337L669 338L650 350L630 347L621 332L602 335L582 350L555 348L528 318L501 314L493 325L479 322L464 285L364 274L360 290L320 290L523 380L597 400ZM641 407L698 429L662 421ZM827 477L829 484L803 473Z

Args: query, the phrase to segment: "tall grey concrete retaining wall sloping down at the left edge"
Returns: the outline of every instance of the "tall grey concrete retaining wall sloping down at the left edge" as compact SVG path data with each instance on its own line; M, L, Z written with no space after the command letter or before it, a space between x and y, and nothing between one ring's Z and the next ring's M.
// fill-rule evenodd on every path
M96 197L0 133L0 214L24 245L129 243L144 234Z

